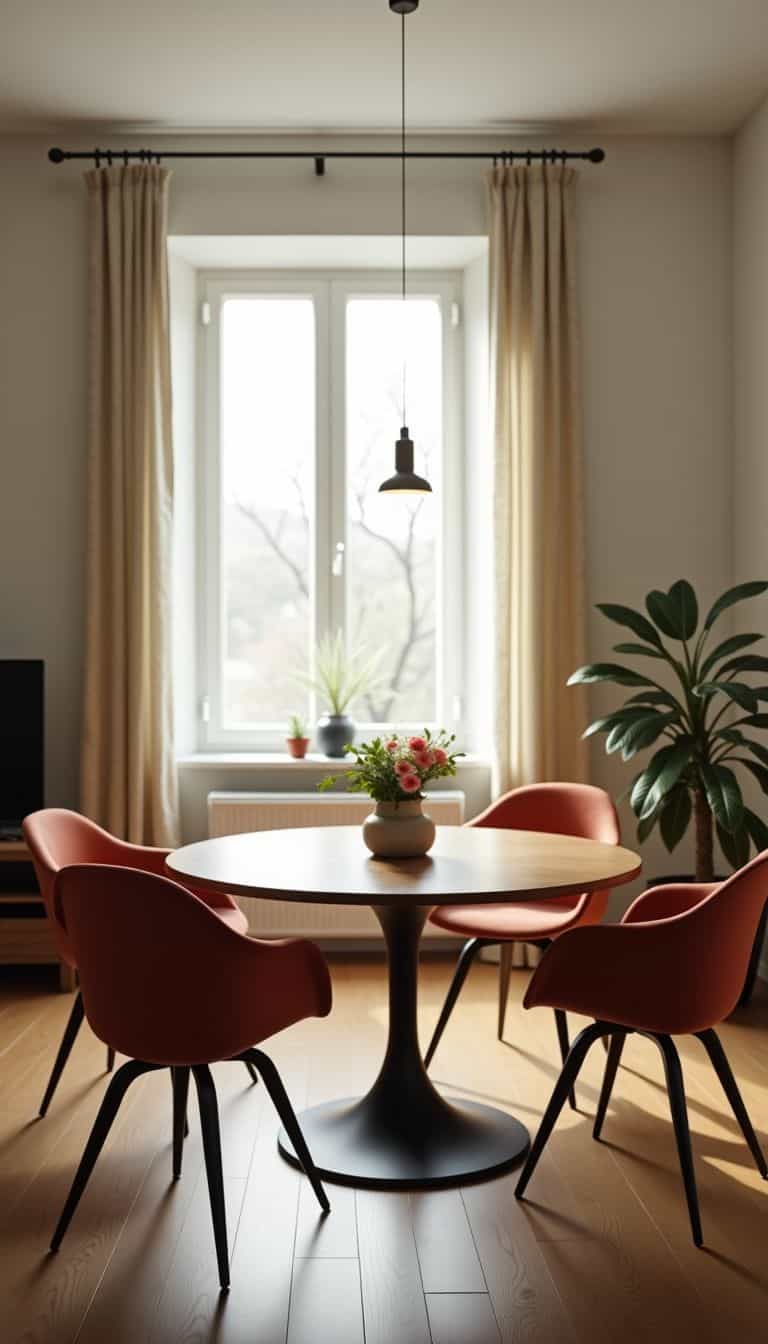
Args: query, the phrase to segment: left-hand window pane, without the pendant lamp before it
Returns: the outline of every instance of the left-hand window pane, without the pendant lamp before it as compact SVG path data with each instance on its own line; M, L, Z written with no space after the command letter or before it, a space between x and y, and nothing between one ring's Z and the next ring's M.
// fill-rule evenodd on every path
M307 714L293 680L311 634L315 312L230 298L221 319L222 722Z

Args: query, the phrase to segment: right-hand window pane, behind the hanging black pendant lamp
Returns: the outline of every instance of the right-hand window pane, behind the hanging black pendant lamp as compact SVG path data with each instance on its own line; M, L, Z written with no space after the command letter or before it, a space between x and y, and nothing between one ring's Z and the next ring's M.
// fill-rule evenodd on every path
M402 418L404 352L408 421ZM347 620L351 646L383 649L385 684L356 706L377 723L437 716L434 496L379 495L408 423L416 470L440 491L443 328L432 298L347 304Z

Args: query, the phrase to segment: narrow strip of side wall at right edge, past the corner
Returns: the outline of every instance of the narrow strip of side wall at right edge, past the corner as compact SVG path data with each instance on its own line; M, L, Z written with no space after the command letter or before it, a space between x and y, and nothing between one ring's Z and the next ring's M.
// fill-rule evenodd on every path
M733 577L768 578L768 101L733 149ZM756 629L765 629L763 625ZM749 626L752 629L753 626ZM763 805L757 802L757 810ZM763 956L768 976L768 954Z

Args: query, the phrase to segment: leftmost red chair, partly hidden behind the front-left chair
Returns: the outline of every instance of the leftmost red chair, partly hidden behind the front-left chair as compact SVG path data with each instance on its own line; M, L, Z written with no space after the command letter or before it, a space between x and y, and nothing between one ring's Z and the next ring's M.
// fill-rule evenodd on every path
M101 827L97 827L95 821L81 816L79 812L70 812L67 808L44 808L42 812L32 812L28 817L24 817L23 827L24 839L35 866L40 895L54 926L58 954L65 965L77 969L71 942L54 918L52 894L56 874L71 863L108 863L121 868L136 868L141 872L157 872L163 875L169 851L128 844L125 840L118 840L110 835L109 831L102 831ZM199 895L206 905L211 906L218 918L231 929L238 933L246 931L247 919L231 896L217 895L215 892L199 892ZM51 1103L63 1067L81 1028L82 1017L82 995L78 991L65 1027L48 1086L40 1103L40 1116L46 1114ZM114 1050L108 1043L108 1073L112 1073L113 1067Z

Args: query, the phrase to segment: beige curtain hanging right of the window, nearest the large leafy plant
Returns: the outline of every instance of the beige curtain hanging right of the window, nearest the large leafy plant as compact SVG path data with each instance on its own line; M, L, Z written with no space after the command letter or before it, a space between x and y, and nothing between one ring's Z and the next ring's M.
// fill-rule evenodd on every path
M576 184L561 165L490 177L496 562L496 792L586 778Z

